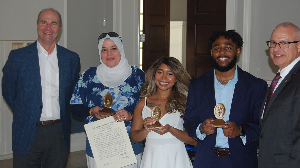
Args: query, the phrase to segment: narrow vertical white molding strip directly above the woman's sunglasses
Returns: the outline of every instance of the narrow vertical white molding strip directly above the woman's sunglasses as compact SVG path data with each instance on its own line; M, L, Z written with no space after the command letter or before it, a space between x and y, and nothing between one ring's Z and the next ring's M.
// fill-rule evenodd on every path
M122 37L122 0L113 0L113 32Z

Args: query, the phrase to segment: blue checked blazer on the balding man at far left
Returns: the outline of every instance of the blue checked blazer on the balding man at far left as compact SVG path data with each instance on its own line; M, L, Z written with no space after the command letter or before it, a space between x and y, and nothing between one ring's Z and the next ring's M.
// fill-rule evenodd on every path
M61 126L69 153L70 99L79 79L80 60L75 52L56 46ZM13 111L12 150L17 155L26 155L35 139L43 108L37 42L10 51L2 71L2 95Z

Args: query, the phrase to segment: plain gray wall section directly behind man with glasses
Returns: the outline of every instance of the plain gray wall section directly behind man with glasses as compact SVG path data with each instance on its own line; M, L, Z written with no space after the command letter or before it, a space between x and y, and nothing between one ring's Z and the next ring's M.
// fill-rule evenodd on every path
M278 67L269 57L266 41L270 40L275 26L281 22L292 22L300 27L299 0L252 0L250 73L256 77L272 80Z

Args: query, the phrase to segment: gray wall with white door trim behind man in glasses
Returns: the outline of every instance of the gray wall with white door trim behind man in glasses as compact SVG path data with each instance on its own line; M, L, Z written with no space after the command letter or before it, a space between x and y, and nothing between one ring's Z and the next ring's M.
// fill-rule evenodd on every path
M270 85L278 67L269 57L266 41L281 22L300 27L299 8L298 0L227 0L226 29L235 29L244 40L237 65Z

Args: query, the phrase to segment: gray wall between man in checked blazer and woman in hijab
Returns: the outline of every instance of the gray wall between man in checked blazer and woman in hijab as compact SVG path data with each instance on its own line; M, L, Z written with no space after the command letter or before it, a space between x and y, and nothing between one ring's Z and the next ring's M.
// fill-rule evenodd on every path
M98 66L98 37L113 31L113 1L68 0L67 16L67 48L79 54L81 72ZM106 26L103 18L107 19Z

